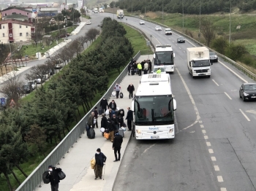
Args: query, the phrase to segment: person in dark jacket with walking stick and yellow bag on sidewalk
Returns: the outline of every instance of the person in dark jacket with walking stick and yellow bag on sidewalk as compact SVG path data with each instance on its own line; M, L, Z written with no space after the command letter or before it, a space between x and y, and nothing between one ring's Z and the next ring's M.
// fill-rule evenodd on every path
M100 149L97 149L97 152L95 153L95 180L102 179L102 168L103 165L105 165L107 157L101 152Z

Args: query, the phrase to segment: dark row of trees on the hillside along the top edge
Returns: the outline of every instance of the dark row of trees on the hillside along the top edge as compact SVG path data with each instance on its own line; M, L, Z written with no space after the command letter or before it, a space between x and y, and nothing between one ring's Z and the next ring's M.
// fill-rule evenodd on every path
M255 1L255 0L251 0ZM232 0L232 5L241 4L239 0ZM209 14L214 12L230 12L230 1L224 0L157 0L157 1L130 1L120 0L112 1L110 7L119 7L120 9L127 9L128 12L157 12L162 11L170 13L182 13L184 9L185 14L199 14L201 7L201 14Z

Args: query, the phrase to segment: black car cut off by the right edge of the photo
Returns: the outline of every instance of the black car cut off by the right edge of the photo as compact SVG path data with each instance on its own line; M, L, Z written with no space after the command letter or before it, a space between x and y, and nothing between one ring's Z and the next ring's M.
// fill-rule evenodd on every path
M244 83L239 90L239 97L246 100L256 100L256 83Z

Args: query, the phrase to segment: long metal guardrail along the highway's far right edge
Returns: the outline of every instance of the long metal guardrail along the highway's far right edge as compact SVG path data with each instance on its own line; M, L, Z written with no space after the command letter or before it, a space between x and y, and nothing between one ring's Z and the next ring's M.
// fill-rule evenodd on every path
M130 16L131 16L131 17L138 17L138 16L133 16L133 15L130 15ZM140 18L140 17L138 17L138 18ZM162 23L157 23L157 22L155 22L154 20L148 20L148 19L146 19L145 17L143 18L143 20L147 20L148 22L155 23L155 24L157 24L158 26L162 26L162 27L165 27L165 28L169 28L169 26L165 26L165 25L163 25ZM127 23L126 23L126 24L127 24ZM135 27L133 27L133 28L135 28ZM137 28L137 29L138 29L138 28ZM181 31L178 31L178 30L173 29L173 28L172 28L172 30L175 31L177 34L180 34L180 35L182 35L182 36L186 36L187 39L190 39L190 40L192 40L193 42L196 42L196 43L199 44L200 46L207 47L205 44L203 44L203 43L197 41L196 39L193 39L191 36L188 36L187 34L183 34ZM140 31L140 30L139 30L139 31ZM144 34L143 32L141 32L141 33L146 36L146 34ZM148 37L146 37L146 38L148 39ZM154 47L154 44L152 44L152 42L151 42L151 45L152 45L152 47ZM207 47L207 48L208 48L209 50L211 50L211 51L216 52L215 50L211 49L210 47ZM217 53L217 55L218 55L220 58L222 58L222 60L227 61L228 63L230 63L230 64L232 64L233 66L235 66L238 70L243 71L244 74L246 74L248 77L250 77L250 78L252 78L252 79L256 79L256 74L254 74L252 71L249 71L249 69L246 69L244 66L241 66L241 64L236 63L235 61L231 60L230 58L227 58L227 56L222 55L222 54L219 53L219 52L216 52L216 53Z

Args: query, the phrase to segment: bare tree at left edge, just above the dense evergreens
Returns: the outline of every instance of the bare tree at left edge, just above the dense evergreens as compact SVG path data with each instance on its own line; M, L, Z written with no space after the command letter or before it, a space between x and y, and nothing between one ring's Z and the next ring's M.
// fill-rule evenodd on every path
M18 102L18 99L21 95L21 87L23 83L20 82L20 76L17 75L16 71L12 71L12 73L5 78L5 82L0 87L0 92L7 97L7 101L13 99L15 103Z

